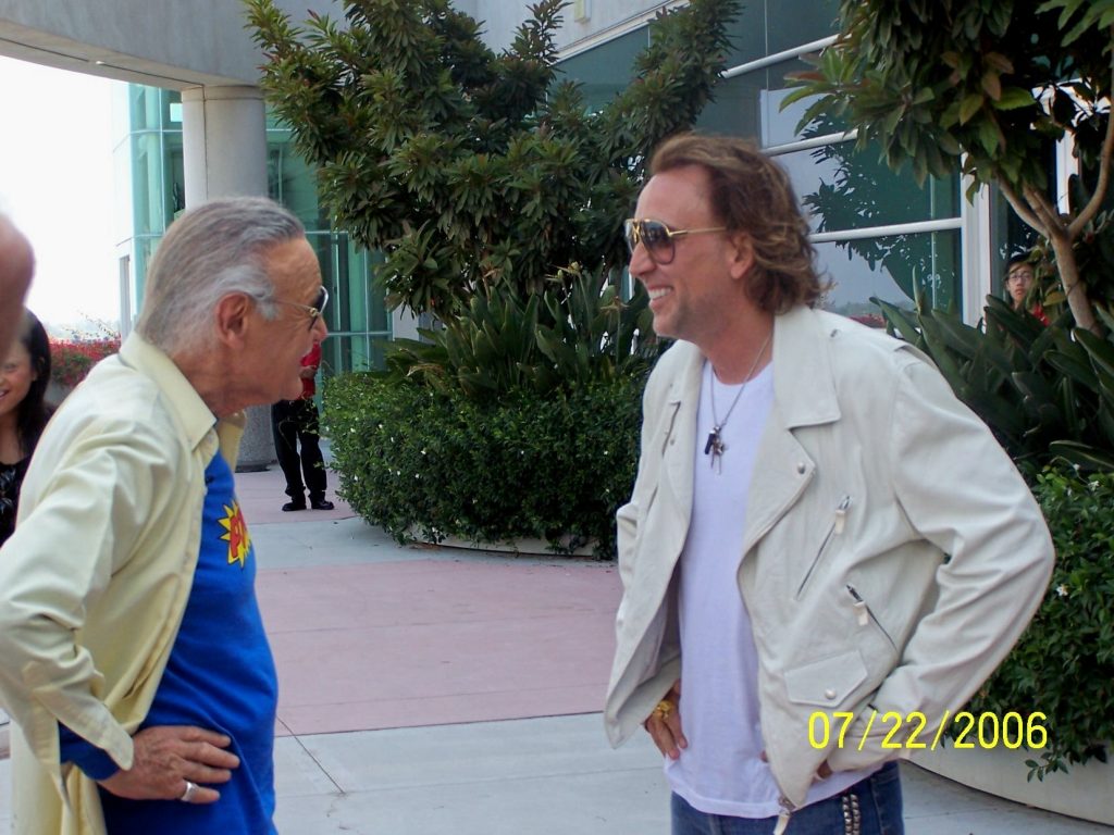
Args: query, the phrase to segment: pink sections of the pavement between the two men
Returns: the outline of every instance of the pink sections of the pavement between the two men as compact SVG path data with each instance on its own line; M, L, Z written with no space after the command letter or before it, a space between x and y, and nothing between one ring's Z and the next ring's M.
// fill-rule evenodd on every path
M257 537L274 522L352 515L339 501L332 512L281 512L276 469L236 481ZM619 599L610 563L399 549L364 564L261 570L257 584L278 667L280 734L603 707Z

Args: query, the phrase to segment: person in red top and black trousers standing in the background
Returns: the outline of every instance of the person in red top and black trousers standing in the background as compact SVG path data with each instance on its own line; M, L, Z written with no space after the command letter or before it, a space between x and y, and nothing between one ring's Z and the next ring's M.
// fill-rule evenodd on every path
M310 353L302 357L302 396L280 400L271 406L275 454L286 477L286 495L290 497L290 501L282 505L285 511L305 510L306 489L310 491L311 508L333 509L333 503L325 500L325 462L319 444L317 406L313 402L317 391L314 377L320 365L321 344L314 343Z

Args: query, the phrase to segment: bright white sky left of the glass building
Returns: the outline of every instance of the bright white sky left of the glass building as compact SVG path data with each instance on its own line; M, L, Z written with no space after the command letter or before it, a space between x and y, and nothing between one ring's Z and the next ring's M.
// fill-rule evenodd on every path
M113 88L0 57L0 212L35 248L27 306L62 335L119 322ZM119 126L120 137L126 126Z

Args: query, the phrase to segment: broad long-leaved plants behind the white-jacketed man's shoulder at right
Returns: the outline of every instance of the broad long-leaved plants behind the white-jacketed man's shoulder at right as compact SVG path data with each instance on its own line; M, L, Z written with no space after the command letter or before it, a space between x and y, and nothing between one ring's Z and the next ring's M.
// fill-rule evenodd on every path
M985 330L954 313L922 307L910 314L873 301L890 333L932 358L1018 465L1036 472L1064 459L1114 470L1112 337L1072 328L1066 315L1045 327L994 296Z

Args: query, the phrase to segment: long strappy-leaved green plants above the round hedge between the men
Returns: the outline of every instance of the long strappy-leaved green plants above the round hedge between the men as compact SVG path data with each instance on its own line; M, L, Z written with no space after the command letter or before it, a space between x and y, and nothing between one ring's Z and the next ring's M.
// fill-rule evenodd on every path
M655 346L647 302L641 285L624 303L603 272L573 267L525 302L490 291L472 296L467 315L422 331L426 343L390 343L388 373L476 399L641 376Z

